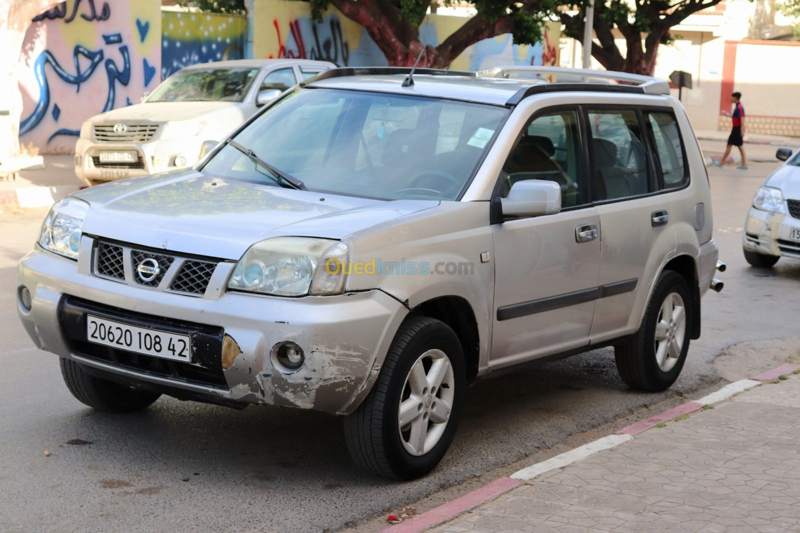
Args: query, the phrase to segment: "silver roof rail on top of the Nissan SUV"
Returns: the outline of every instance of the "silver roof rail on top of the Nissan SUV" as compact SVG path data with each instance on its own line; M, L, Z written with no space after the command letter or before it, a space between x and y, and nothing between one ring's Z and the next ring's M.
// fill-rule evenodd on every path
M670 94L670 84L658 78L615 72L614 70L567 69L562 66L497 66L478 70L478 78L511 78L514 74L555 75L559 82L609 83L611 81L635 84L644 94ZM523 76L522 79L525 79Z

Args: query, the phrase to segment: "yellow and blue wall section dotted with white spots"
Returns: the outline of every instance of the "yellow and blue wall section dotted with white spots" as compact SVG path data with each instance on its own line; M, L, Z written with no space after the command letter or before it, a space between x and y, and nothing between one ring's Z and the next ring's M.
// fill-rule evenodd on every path
M161 78L184 66L244 58L243 16L162 11Z

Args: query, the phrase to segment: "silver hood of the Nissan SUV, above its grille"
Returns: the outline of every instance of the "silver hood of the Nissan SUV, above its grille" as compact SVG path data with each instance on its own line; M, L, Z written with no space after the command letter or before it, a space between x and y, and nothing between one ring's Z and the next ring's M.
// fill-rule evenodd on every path
M83 225L86 234L234 260L264 238L345 238L439 203L285 189L195 170L109 182L74 196L91 206Z

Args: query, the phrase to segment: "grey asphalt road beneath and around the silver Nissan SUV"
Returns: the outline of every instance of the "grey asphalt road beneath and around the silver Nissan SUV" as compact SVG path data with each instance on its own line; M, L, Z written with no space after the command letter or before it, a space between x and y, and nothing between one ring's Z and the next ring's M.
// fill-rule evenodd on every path
M109 415L78 403L62 384L57 358L35 350L16 317L16 262L33 245L44 212L0 215L0 531L374 528L378 521L359 524L643 407L677 403L719 382L710 363L731 344L797 335L800 261L754 269L740 244L750 199L775 166L710 170L726 288L703 300L702 339L670 391L627 390L610 349L487 379L468 390L442 464L409 483L358 471L342 421L330 415L167 398L140 413Z

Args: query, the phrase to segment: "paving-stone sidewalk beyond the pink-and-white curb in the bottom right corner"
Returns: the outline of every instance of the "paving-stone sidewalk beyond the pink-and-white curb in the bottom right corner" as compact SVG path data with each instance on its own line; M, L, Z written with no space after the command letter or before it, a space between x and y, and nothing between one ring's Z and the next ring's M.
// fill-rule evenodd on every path
M430 531L800 531L800 375L654 427Z

